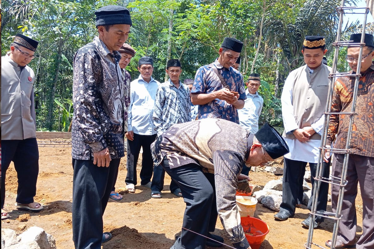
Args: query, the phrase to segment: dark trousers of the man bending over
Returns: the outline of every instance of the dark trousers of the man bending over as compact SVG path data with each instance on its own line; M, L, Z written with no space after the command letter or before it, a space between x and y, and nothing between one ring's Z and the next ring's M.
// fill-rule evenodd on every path
M214 174L204 174L197 164L171 169L167 159L164 159L162 166L177 182L186 203L182 234L175 241L174 248L204 249L206 239L198 234L206 236L208 231L214 231L217 221L215 186L211 183L214 182ZM212 212L213 209L215 212Z

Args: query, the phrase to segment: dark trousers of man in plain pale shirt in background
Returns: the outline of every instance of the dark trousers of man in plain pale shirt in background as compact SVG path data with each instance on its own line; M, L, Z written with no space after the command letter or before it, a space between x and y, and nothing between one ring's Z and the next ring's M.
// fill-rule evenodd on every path
M140 148L143 147L142 163L140 171L140 184L145 185L151 181L153 173L153 159L151 154L151 143L156 139L154 135L139 135L134 133L134 140L127 140L127 175L126 184L137 185L137 163Z

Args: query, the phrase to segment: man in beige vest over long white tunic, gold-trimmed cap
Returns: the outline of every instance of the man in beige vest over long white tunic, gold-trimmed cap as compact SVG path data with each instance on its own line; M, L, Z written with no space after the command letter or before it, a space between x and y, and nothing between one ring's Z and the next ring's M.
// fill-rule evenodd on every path
M303 197L303 180L306 165L309 163L312 185L316 176L319 158L319 145L324 126L324 112L328 97L329 74L331 68L322 63L327 52L325 38L318 35L305 37L303 49L306 65L292 71L284 84L282 92L283 138L289 147L284 156L282 184L282 203L280 211L274 215L279 221L285 221L295 215L296 205ZM322 176L329 177L329 164L322 165ZM313 193L313 189L312 189ZM328 184L321 183L317 211L326 211ZM308 209L312 208L313 196ZM324 221L322 217L308 216L301 224L317 228Z

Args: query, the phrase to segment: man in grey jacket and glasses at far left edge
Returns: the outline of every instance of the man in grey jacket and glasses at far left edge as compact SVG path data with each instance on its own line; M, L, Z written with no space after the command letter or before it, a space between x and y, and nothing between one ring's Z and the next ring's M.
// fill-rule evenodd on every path
M5 174L11 161L17 171L16 206L32 211L43 209L34 202L39 173L36 142L33 69L27 66L35 57L36 40L16 34L10 53L1 57L1 220L4 210Z

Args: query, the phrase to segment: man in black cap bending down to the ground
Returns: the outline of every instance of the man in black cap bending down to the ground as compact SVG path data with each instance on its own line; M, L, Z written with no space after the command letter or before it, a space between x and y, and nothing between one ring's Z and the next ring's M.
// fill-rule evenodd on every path
M173 125L151 149L154 166L175 180L186 202L182 233L171 249L222 246L223 238L211 233L217 211L233 247L251 248L240 224L235 194L238 180L249 180L240 174L243 164L264 165L288 153L284 139L271 125L266 123L251 134L232 121L203 118ZM213 174L213 181L206 172Z

